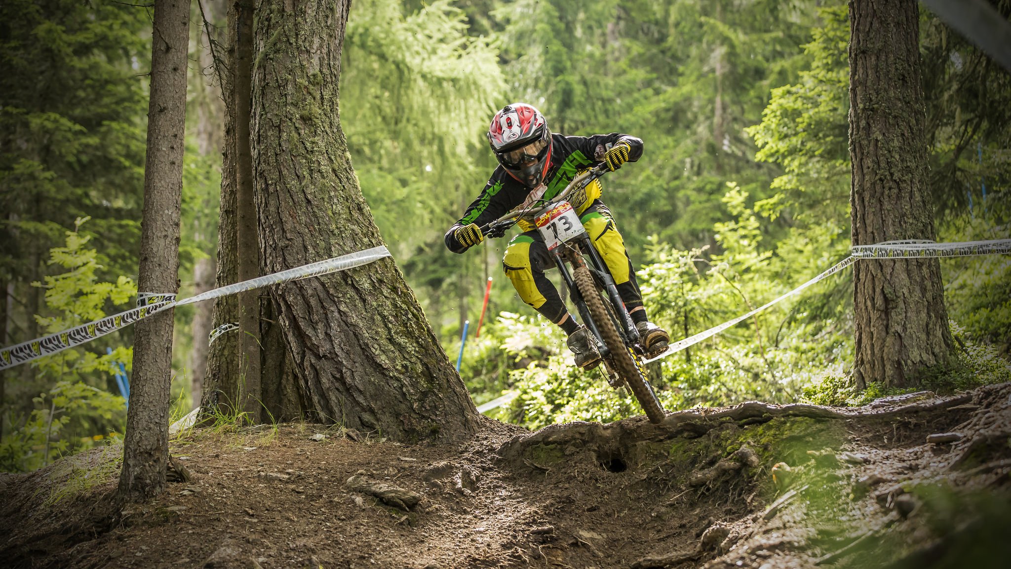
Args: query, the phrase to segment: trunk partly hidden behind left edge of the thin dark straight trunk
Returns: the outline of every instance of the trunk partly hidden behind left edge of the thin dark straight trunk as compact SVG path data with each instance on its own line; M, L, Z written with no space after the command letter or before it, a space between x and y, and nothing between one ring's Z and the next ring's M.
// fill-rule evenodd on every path
M221 99L224 104L224 138L221 144L221 197L217 221L217 287L239 280L239 248L236 219L236 112L233 95L232 60L235 58L237 15L229 3L225 28L224 53L218 52L223 61L214 67L221 82ZM239 321L239 299L234 295L214 301L211 329ZM218 336L207 347L207 373L204 375L203 394L200 399L201 414L217 411L233 412L239 397L239 335L227 333ZM222 405L223 409L218 406Z

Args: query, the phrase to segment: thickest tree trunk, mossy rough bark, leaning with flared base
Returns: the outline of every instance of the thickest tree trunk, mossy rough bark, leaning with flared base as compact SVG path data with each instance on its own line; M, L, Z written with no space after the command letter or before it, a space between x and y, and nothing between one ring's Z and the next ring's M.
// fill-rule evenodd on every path
M382 243L338 115L348 0L267 0L257 14L253 164L264 269ZM392 259L272 290L316 417L399 440L454 440L476 410Z

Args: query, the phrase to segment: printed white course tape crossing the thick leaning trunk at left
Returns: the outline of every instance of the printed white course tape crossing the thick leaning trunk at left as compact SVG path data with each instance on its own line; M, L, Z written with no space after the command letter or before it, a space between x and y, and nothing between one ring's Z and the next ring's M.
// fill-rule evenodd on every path
M168 310L172 307L208 301L219 297L235 295L244 291L252 291L268 284L278 284L289 280L308 278L310 276L321 276L340 270L347 270L352 267L361 266L383 257L390 256L389 250L384 246L373 247L364 251L349 253L333 259L318 261L311 264L282 270L266 276L259 276L207 291L206 293L177 301L175 295L142 293L137 295L137 306L132 310L106 316L101 320L88 322L63 332L50 334L41 338L22 342L10 347L0 349L0 370L13 368L21 363L27 363L45 355L52 355L63 351L69 347L90 342L95 338L100 338L111 332L128 326L142 318L147 318L152 314ZM161 302L156 302L156 301Z

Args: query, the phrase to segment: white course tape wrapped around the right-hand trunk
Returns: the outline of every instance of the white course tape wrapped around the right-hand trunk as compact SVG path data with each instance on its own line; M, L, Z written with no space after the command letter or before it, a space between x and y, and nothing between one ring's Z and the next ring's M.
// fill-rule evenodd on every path
M888 241L884 243L877 243L875 245L856 245L850 248L852 253L850 256L846 257L842 261L836 263L831 268L825 272L815 276L811 280L808 280L804 284L794 289L793 291L778 297L777 299L770 301L747 314L738 316L733 320L729 320L706 330L705 332L699 332L694 336L684 338L683 340L676 341L670 344L666 350L661 352L655 357L651 357L643 361L643 363L650 363L656 361L657 359L662 359L672 353L677 353L678 351L693 346L701 341L712 338L713 336L719 334L720 332L730 328L731 326L737 325L748 318L764 311L765 309L779 303L785 299L789 299L794 295L797 295L801 291L811 287L812 284L824 280L829 276L839 272L840 270L848 267L849 265L855 263L860 259L903 259L903 258L928 258L928 257L962 257L969 255L992 255L1001 253L1011 253L1011 239L995 239L991 241L964 241L959 243L934 243L932 241Z

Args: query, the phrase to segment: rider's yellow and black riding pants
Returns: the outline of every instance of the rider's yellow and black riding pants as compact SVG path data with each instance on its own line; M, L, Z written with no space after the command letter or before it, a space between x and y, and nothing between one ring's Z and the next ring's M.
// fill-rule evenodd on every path
M579 221L586 228L593 248L608 265L618 292L625 301L625 307L632 310L642 306L642 296L632 270L632 261L625 250L625 240L618 232L611 212L604 204L596 201L583 212ZM557 323L568 311L554 284L544 275L545 270L554 266L544 238L537 230L514 237L505 248L505 257L502 259L505 275L523 302Z

